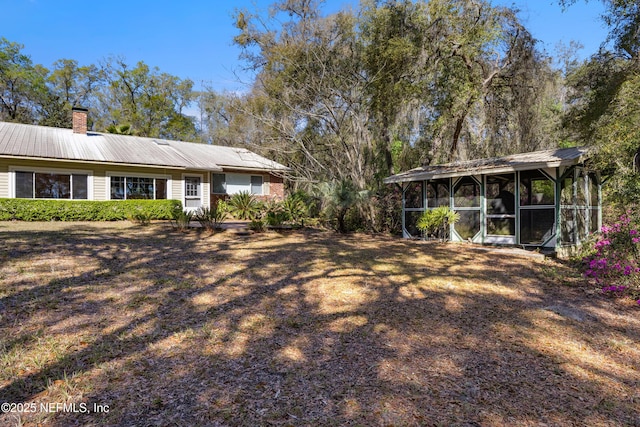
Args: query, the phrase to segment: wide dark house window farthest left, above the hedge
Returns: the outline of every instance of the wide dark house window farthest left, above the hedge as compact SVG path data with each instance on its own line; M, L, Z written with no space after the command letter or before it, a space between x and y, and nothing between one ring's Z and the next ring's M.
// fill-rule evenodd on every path
M15 196L22 199L88 198L87 174L15 172Z

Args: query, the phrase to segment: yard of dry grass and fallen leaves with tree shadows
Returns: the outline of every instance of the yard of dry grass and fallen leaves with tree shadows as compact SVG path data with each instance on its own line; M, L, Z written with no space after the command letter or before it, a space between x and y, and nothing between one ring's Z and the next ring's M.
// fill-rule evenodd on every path
M3 426L640 424L640 310L553 261L162 223L0 249L0 402L38 405Z

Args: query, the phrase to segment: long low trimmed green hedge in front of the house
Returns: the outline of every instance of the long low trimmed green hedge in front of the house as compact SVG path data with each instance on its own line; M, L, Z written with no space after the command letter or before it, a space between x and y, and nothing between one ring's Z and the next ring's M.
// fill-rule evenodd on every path
M0 199L1 221L122 221L171 219L179 200Z

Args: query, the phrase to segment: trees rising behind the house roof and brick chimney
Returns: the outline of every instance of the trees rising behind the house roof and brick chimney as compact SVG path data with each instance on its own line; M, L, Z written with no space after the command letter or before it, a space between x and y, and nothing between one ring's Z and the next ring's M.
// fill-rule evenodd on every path
M183 114L196 95L191 80L142 61L131 67L120 58L100 68L61 59L50 71L34 65L22 49L0 38L0 120L71 127L71 108L91 105L90 120L100 130L197 140L194 120Z

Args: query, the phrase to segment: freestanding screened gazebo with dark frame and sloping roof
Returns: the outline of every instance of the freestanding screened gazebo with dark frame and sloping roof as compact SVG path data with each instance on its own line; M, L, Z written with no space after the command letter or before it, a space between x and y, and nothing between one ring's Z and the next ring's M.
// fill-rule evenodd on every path
M424 166L393 175L402 186L404 237L417 237L422 213L460 214L452 241L519 245L565 256L599 230L601 177L585 168L586 148Z

